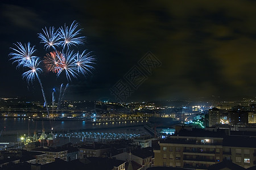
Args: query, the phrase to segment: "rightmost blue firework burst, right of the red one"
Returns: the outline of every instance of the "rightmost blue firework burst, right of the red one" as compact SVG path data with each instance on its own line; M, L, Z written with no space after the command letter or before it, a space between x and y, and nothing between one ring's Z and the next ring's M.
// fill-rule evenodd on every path
M92 73L90 70L94 69L92 64L94 64L95 61L94 56L92 56L92 52L86 52L86 50L84 50L82 54L77 52L75 61L78 73L81 73L84 76L88 74L88 72Z

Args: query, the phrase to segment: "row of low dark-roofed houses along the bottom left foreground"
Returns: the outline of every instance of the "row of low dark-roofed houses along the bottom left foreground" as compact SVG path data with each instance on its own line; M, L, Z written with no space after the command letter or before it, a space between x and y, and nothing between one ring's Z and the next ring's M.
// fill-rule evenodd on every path
M65 163L63 163L65 162ZM38 147L30 151L6 150L0 154L0 168L24 166L23 169L51 169L57 164L79 164L80 167L98 169L144 170L154 165L152 147L140 148L129 141L103 143L79 143L61 147ZM111 164L110 164L111 163ZM46 168L47 167L47 168ZM54 168L53 168L54 169ZM64 168L65 169L65 168Z

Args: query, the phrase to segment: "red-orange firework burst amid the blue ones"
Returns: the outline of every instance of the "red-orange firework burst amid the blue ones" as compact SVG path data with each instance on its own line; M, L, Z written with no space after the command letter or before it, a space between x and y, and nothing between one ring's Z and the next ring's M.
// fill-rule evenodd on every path
M59 71L59 66L60 66L60 59L61 53L56 51L56 52L50 52L47 53L46 56L44 56L44 65L49 71L52 71L53 73L57 73Z

